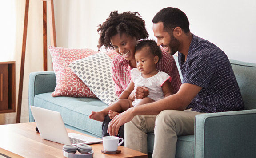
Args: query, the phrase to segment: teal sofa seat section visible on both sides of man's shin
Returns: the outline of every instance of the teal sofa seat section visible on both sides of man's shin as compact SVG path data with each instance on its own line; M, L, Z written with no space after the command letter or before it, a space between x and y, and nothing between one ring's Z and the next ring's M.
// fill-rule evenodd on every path
M148 152L153 152L154 146L154 134L148 134ZM184 135L178 136L177 146L176 146L176 156L175 158L194 158L195 155L195 136L194 135Z

